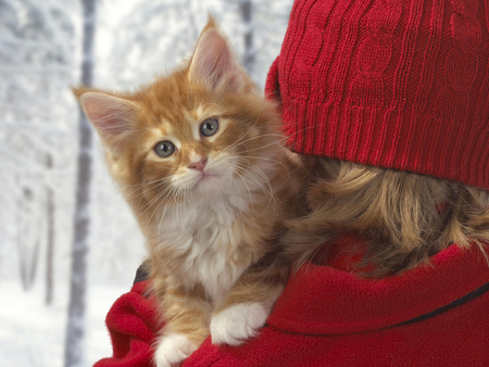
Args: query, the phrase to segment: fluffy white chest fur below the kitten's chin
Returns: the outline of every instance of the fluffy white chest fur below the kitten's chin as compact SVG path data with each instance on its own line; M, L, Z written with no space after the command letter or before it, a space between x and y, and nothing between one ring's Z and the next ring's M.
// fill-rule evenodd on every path
M249 202L229 194L216 200L189 201L167 210L160 230L160 245L183 258L170 264L179 281L188 287L202 284L214 303L228 292L240 275L256 260L243 249Z

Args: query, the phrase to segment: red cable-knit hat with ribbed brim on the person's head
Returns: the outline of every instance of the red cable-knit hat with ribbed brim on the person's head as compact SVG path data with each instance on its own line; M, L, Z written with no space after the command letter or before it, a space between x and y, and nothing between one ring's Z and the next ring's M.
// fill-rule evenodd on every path
M265 89L298 153L489 190L486 0L298 0Z

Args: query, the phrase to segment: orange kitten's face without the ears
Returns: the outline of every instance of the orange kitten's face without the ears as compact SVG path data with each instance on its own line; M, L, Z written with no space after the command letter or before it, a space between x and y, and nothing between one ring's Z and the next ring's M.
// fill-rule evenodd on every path
M147 116L150 127L145 122L140 132L147 190L153 195L163 189L174 197L214 198L243 176L261 181L261 177L255 177L259 174L250 170L252 166L266 165L260 152L263 145L271 144L269 136L261 136L265 132L260 116L264 105L242 96L220 96L196 88L188 92L190 87L184 85L165 93L168 97L164 105L146 107L152 115ZM271 117L269 113L265 113L266 117ZM171 197L170 201L178 201Z

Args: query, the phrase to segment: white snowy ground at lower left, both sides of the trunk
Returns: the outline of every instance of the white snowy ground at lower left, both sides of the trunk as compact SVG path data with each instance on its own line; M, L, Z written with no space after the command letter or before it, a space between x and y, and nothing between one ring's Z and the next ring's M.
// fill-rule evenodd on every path
M85 366L110 356L104 319L113 302L127 287L90 284L87 299ZM43 304L41 287L24 292L20 282L0 282L0 366L62 367L66 331L67 288L57 291L51 306Z

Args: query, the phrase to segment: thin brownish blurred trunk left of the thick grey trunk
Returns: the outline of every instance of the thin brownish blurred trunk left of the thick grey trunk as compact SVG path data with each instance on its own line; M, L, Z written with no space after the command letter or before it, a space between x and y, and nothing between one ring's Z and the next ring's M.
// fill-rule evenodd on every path
M48 173L52 169L52 156L48 153L46 167ZM46 250L46 305L52 303L54 294L54 191L52 190L52 182L49 182L47 189L47 222L48 222L48 243Z

